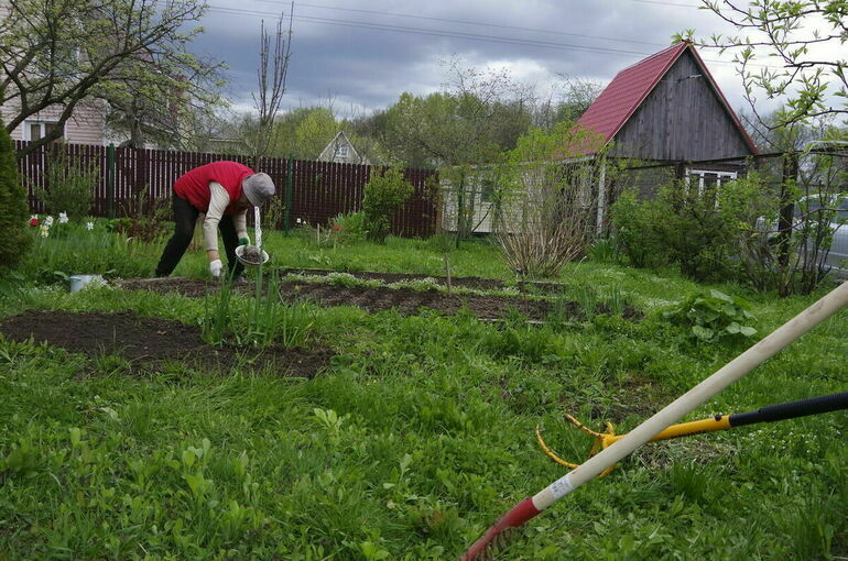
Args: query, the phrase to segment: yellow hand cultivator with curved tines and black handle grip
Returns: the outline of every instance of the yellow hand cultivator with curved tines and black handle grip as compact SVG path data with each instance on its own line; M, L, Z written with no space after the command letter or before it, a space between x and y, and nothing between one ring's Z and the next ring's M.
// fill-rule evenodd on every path
M757 409L755 411L737 413L733 415L715 415L706 419L672 425L649 440L649 442L689 437L692 435L700 435L703 432L716 432L719 430L743 427L746 425L753 425L757 422L774 422L779 420L795 419L798 417L806 417L808 415L819 415L824 413L838 411L841 409L848 409L848 392L840 392L838 394L830 394L822 397L812 397L809 399L801 399L798 402L790 402L787 404L771 405L769 407ZM565 418L568 420L568 422L595 439L595 442L591 446L591 450L589 451L589 458L595 455L596 452L609 448L627 436L616 435L616 429L610 422L607 422L606 432L596 432L570 415L566 414ZM536 441L539 441L539 446L542 448L545 454L547 454L547 457L556 463L570 469L575 469L579 465L576 463L567 462L556 455L542 439L542 431L539 429L539 427L536 427ZM598 476L604 477L609 472L611 472L615 464L610 465Z

